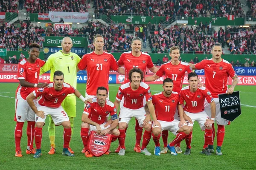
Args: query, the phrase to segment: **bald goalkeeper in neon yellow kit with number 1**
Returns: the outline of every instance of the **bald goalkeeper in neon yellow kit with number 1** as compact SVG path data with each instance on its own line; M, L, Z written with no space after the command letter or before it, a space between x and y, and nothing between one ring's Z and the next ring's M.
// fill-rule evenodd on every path
M76 88L76 72L77 72L77 64L80 61L80 57L70 52L73 44L70 37L64 37L61 42L62 50L51 54L44 67L41 68L41 73L43 74L46 71L51 70L50 81L53 81L53 73L57 70L62 71L65 74L65 82L72 85ZM69 94L61 104L64 110L67 112L69 116L71 130L73 134L74 128L74 117L76 117L76 96L74 94ZM55 153L55 125L51 117L49 117L49 138L51 142L51 149L48 152L49 154ZM74 153L73 150L68 147L70 153Z

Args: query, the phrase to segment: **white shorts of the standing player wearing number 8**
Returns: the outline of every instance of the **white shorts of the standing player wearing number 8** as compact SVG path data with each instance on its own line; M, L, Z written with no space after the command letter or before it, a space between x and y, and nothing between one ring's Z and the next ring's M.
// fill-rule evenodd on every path
M36 105L36 99L33 100ZM15 99L15 121L25 122L31 121L35 122L35 112L29 107L29 104L24 99Z

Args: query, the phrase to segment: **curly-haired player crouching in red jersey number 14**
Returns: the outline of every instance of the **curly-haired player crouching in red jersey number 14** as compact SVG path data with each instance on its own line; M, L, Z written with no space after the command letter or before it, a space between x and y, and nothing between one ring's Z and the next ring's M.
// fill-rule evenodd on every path
M120 110L119 114L119 132L118 137L119 145L121 147L119 151L120 156L125 155L125 129L128 126L132 117L135 117L140 127L144 127L145 132L143 134L143 142L141 147L141 153L151 156L151 153L146 149L150 139L151 139L151 122L150 115L145 112L143 99L145 96L146 102L148 103L148 109L150 113L154 113L154 106L151 102L152 96L149 86L141 82L144 74L140 68L133 68L130 70L129 74L130 82L125 83L119 87L116 94L116 101L114 102L116 109L120 105L122 97L124 97L124 105Z

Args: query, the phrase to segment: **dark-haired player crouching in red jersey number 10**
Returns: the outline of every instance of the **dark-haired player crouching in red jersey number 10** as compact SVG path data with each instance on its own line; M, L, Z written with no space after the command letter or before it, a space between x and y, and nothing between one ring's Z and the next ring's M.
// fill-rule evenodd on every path
M206 155L212 155L210 150L208 149L208 144L212 142L212 124L215 120L215 111L216 106L214 99L212 98L211 93L205 87L198 87L198 75L194 72L189 73L188 75L189 86L186 86L180 91L180 105L183 105L184 101L186 102L184 112L187 116L192 119L194 124L195 121L201 127L201 130L205 130L204 132L204 147L201 153ZM204 111L204 101L206 101L211 106L212 117L209 119L209 116ZM189 123L190 130L193 130L193 124ZM191 152L191 140L192 135L187 136L186 144L187 148L185 151L185 155L189 155Z

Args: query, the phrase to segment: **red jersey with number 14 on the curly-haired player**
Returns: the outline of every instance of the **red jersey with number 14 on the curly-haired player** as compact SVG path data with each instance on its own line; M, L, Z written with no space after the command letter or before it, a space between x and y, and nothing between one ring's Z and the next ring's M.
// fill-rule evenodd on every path
M123 96L125 98L124 107L129 109L139 109L144 107L144 96L147 102L152 99L150 87L145 82L140 82L139 88L135 91L131 89L131 82L121 85L116 94L116 99L121 101Z

